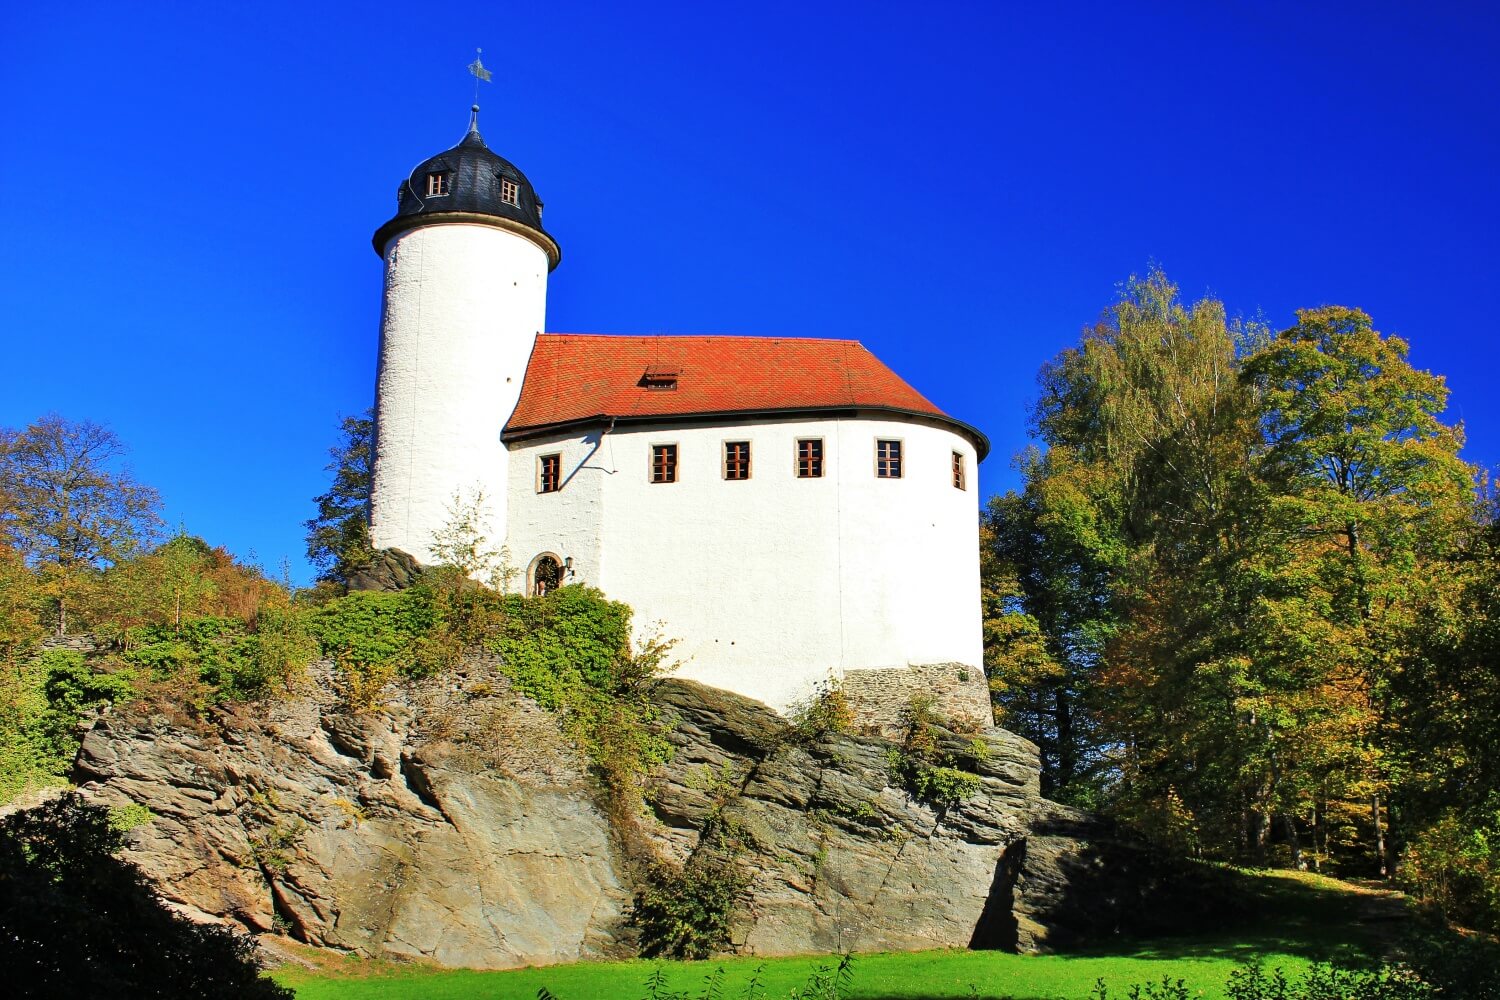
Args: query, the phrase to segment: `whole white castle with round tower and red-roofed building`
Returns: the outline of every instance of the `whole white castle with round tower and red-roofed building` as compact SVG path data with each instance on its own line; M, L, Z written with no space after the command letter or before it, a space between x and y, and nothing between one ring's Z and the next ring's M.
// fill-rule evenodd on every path
M374 237L374 544L432 562L483 496L530 592L628 603L680 676L778 711L837 679L876 723L930 693L988 726L984 435L855 340L543 333L561 250L474 112Z

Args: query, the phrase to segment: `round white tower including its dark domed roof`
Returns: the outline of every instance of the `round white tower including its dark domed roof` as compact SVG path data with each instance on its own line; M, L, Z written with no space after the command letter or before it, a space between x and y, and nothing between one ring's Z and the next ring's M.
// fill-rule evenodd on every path
M400 183L375 232L386 259L370 541L430 564L454 496L483 496L506 537L507 451L526 360L546 316L556 241L525 174L492 153L478 108L464 141Z

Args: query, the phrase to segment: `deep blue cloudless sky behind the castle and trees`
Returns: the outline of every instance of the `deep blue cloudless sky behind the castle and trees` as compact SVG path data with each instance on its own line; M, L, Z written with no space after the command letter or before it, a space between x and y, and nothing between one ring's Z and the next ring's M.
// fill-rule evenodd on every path
M862 340L1014 484L1038 366L1160 262L1360 306L1500 463L1494 4L8 4L0 424L108 423L168 517L303 562L374 393L398 181L548 204L548 327Z

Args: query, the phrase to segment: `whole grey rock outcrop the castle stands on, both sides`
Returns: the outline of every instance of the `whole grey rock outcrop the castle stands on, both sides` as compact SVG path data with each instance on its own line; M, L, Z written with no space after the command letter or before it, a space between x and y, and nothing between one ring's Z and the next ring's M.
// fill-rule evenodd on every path
M128 858L172 906L446 966L633 954L639 865L552 715L486 663L360 714L326 694L326 670L213 727L123 711L86 736L75 780L152 811ZM740 952L1038 949L1107 933L1140 891L1119 880L1136 855L1042 801L1035 747L1004 730L944 735L980 792L934 810L892 784L884 739L796 739L764 705L687 681L657 700L675 756L646 828L678 859L734 831L752 876Z

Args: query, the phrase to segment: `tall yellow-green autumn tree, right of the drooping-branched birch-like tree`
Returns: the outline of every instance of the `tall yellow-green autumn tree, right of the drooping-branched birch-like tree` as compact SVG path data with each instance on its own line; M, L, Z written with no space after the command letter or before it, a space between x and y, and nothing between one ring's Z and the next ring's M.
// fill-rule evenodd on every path
M1407 361L1407 343L1344 306L1298 312L1298 322L1252 354L1245 381L1262 400L1260 475L1272 492L1280 571L1312 598L1323 640L1287 660L1317 678L1346 714L1362 753L1382 874L1382 798L1390 774L1390 700L1414 609L1470 523L1474 469L1458 457L1462 429L1444 424L1442 376ZM1389 825L1389 823L1388 823Z

